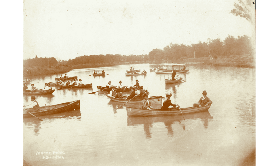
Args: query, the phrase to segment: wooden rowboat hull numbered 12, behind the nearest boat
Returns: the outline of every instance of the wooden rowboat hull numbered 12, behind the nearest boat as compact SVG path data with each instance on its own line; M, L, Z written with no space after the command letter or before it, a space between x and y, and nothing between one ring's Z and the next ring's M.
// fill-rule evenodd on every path
M125 98L127 98L127 96L123 96L123 99L118 99L118 98L115 98L115 97L111 97L111 96L109 96L109 95L106 95L108 98L110 98L111 100L113 100L113 101L118 101L118 102L121 102L121 103L126 103L127 101L128 101L128 103L136 103L136 104L138 104L138 103L142 103L142 100L143 99L132 99L132 100L130 100L130 99L126 99L125 100ZM164 98L164 97L162 97L162 96L154 96L154 97L150 97L150 98L148 98L148 100L152 103L152 104L161 104L161 102L162 102L162 98ZM130 101L129 101L130 100Z

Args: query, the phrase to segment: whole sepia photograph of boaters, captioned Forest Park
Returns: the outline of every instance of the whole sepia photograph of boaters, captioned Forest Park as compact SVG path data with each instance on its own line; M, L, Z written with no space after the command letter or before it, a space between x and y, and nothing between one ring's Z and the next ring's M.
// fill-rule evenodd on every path
M256 165L255 5L23 0L23 166Z

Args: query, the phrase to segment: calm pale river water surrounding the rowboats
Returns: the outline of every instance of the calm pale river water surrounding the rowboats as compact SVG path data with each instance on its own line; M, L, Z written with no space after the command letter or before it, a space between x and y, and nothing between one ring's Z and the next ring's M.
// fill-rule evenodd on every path
M133 66L147 75L125 76ZM157 66L157 65L155 65ZM149 72L152 64L76 69L93 88L55 90L36 96L40 106L80 99L80 110L23 120L23 159L30 165L239 165L256 148L256 69L186 65L180 76L184 83L165 85L168 74ZM88 76L93 70L109 74ZM35 87L54 82L57 75L30 77ZM123 103L110 101L97 85L108 81L118 85L148 88L150 95L165 96L172 103L192 107L207 91L213 101L208 112L169 117L127 117ZM31 85L28 85L29 89ZM59 87L53 87L59 89ZM23 95L23 105L30 104ZM140 107L141 105L137 106ZM156 105L161 107L161 105ZM50 152L50 153L49 153ZM60 152L60 153L59 153ZM41 154L42 153L42 154ZM44 153L44 154L43 154ZM53 154L54 153L54 154ZM47 157L46 157L47 156Z

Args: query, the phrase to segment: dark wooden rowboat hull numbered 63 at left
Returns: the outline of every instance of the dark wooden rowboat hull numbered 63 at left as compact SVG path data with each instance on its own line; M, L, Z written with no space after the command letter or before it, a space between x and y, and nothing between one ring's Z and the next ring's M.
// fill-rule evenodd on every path
M75 100L67 103L56 104L53 106L43 106L39 108L38 112L32 112L35 116L51 115L80 108L80 100ZM23 113L23 118L33 117L27 112Z

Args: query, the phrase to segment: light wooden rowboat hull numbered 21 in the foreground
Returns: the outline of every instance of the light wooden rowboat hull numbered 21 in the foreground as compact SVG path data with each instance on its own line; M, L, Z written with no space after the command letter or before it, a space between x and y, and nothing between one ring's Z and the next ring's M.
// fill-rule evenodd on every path
M188 107L188 108L180 108L182 114L192 114L197 112L207 111L211 105L208 106L201 106L201 107ZM172 116L172 115L181 115L181 112L178 108L172 110L159 110L159 109L152 109L146 110L142 108L134 108L126 106L126 113L127 116Z

